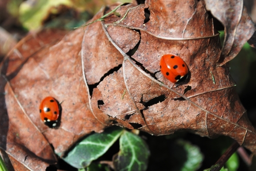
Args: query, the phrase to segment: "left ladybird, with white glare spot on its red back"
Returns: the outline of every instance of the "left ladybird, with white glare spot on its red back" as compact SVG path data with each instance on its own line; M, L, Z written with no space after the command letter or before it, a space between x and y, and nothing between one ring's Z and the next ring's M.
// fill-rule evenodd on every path
M50 128L57 126L60 116L60 105L53 97L46 97L39 106L41 120Z

